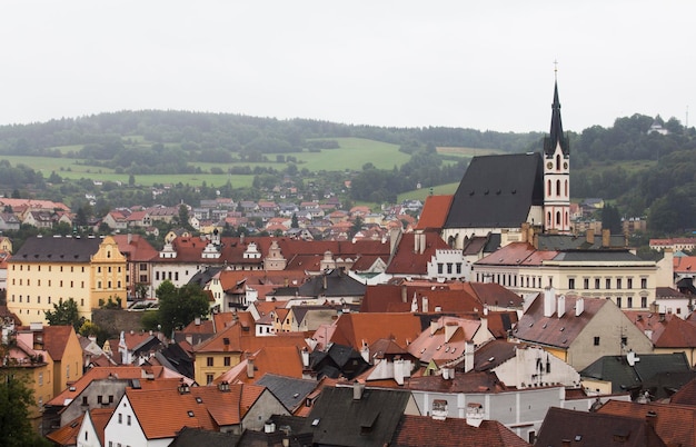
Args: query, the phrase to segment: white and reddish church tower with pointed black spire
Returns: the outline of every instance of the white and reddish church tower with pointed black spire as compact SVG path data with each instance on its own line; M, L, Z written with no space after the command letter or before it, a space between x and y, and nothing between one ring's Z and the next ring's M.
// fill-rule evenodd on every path
M544 139L544 230L570 232L570 148L560 122L558 82L554 85L551 131Z

